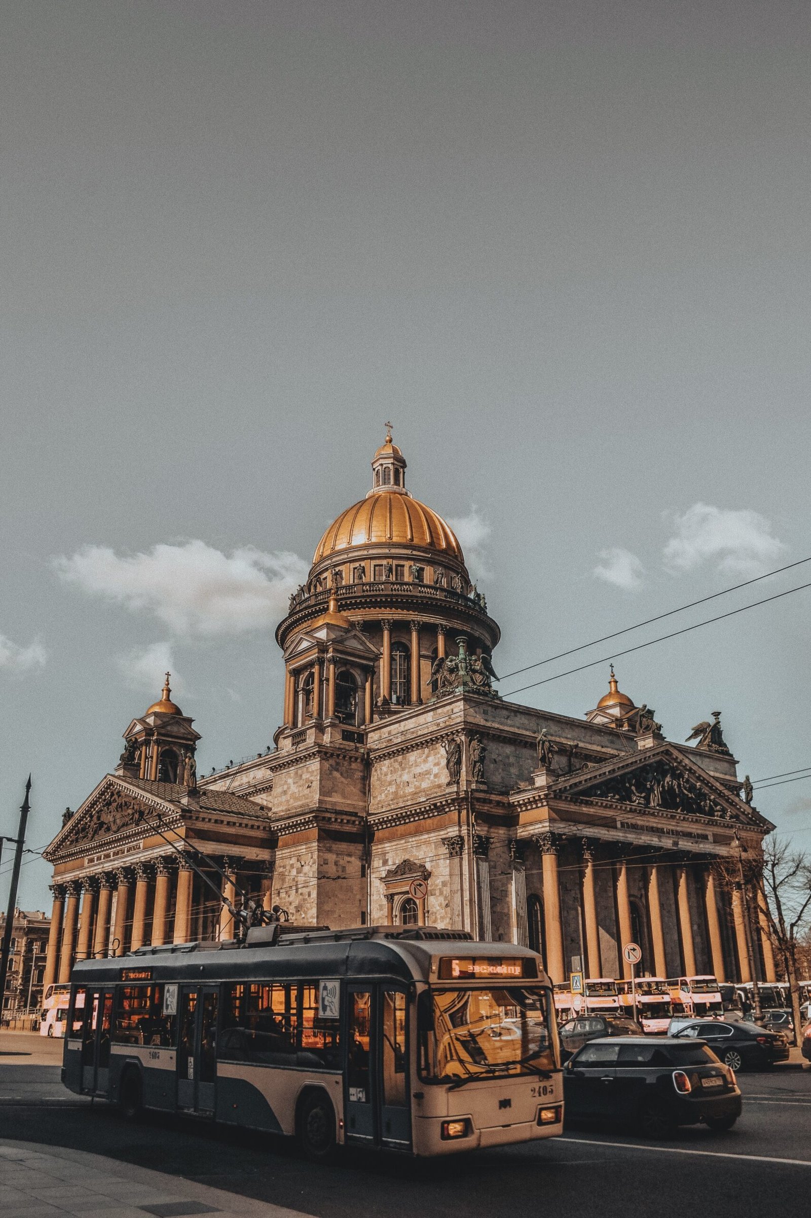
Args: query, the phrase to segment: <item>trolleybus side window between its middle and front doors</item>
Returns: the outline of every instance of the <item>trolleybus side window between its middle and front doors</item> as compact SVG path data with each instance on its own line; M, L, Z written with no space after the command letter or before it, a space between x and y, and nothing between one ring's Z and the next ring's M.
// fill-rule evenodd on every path
M339 1066L339 1021L318 1013L318 982L223 987L220 1061Z

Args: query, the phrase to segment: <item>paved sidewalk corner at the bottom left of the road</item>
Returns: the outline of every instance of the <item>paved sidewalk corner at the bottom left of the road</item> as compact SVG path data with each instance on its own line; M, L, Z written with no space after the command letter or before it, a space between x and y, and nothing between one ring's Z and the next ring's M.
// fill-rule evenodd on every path
M2 1218L307 1218L297 1209L269 1206L235 1192L175 1175L133 1167L101 1155L39 1142L0 1140Z

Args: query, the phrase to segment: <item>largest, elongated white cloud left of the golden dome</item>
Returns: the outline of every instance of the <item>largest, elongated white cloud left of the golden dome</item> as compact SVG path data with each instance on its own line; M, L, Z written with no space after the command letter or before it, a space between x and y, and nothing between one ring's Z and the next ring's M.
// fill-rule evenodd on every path
M151 613L174 635L203 637L273 626L308 570L286 551L268 554L246 546L224 554L203 541L129 555L85 546L54 565L61 579L93 596Z

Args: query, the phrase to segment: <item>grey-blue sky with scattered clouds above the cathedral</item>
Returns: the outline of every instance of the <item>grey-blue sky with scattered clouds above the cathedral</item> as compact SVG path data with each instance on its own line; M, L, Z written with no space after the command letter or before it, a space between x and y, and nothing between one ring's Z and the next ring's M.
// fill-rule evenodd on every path
M30 771L41 849L166 667L202 772L272 742L275 624L387 420L502 675L811 555L810 50L783 0L6 0L0 833ZM810 581L502 691L602 660L518 694L581 716L611 647ZM620 688L811 766L810 607ZM811 849L811 781L755 803Z

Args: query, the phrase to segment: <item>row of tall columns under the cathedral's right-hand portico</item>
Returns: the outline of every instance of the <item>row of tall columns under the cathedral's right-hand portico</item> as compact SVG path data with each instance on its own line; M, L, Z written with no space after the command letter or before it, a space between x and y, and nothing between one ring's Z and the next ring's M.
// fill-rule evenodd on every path
M554 833L542 833L532 838L532 842L541 850L542 860L542 887L543 887L543 932L546 939L546 966L553 982L564 982L567 977L564 926L560 904L560 879L558 871L558 854L565 839ZM526 843L515 842L511 844L510 857L514 871L514 914L513 924L518 942L528 942L526 915L519 907L519 903L526 903L526 878L524 862L524 847ZM583 839L581 843L581 868L580 868L580 910L582 917L582 939L586 960L583 968L589 977L603 976L603 962L600 952L600 927L598 918L598 896L595 883L595 843ZM617 939L617 957L622 968L622 977L631 978L632 966L622 957L622 946L633 942L633 911L632 898L628 885L628 868L634 866L632 855L621 857L611 864L613 888L615 900L615 926ZM726 982L727 966L723 951L723 935L721 931L721 918L718 916L717 883L712 868L704 861L692 862L689 860L669 861L667 864L641 864L644 870L644 896L647 906L647 931L650 938L650 954L653 960L653 972L658 977L667 977L667 957L665 951L665 929L662 920L662 890L661 879L665 871L675 867L675 906L678 932L678 944L681 955L682 973L695 976L697 944L693 929L693 914L695 912L704 922L706 944L712 966L712 973L718 982ZM701 907L693 911L689 896L689 872L694 871L700 893ZM518 872L518 882L516 873ZM736 950L739 961L740 982L750 982L751 956L757 952L759 945L762 952L765 976L764 980L774 980L774 956L768 935L768 923L764 907L765 898L762 892L757 893L757 920L751 926L751 939L746 933L746 917L744 910L744 894L742 888L734 887L731 894L732 926L734 931ZM755 939L757 934L759 942Z

